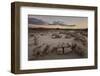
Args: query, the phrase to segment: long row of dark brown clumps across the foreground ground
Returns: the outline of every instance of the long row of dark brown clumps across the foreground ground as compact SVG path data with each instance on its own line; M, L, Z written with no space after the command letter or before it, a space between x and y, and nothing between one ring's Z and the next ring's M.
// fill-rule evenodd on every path
M68 44L69 45L69 44ZM55 53L57 55L67 55L68 53L74 52L80 57L86 56L87 49L86 47L78 44L72 44L68 47L66 46L61 46L61 47L54 47L54 46L49 46L49 45L41 45L37 46L33 49L33 56L38 58L41 56L46 56L48 54Z

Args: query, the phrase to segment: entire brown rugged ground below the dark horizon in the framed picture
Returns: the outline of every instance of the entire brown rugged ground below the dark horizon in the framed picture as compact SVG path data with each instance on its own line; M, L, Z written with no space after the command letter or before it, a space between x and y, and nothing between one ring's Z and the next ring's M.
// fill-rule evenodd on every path
M28 31L28 60L87 58L87 29Z

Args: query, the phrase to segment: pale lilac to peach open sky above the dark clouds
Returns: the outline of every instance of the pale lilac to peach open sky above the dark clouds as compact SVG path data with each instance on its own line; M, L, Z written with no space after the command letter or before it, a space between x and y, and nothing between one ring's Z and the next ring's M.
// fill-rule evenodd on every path
M88 25L87 17L74 17L74 16L46 16L46 15L29 15L28 18L41 19L47 23L52 23L54 21L61 21L68 25L77 25L79 27L86 27Z

